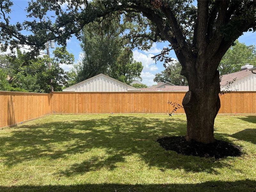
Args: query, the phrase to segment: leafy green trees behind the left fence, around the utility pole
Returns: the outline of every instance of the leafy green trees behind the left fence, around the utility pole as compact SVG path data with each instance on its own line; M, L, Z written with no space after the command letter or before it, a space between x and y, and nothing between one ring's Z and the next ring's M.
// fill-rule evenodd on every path
M1 90L44 93L50 92L52 86L54 91L62 91L62 86L67 84L68 76L60 64L72 64L74 56L60 47L53 51L53 55L53 58L44 55L27 59L27 53L22 53L19 49L16 57L5 55L6 62L1 68L1 78L5 78L5 85L8 79L8 86L2 86ZM48 68L48 62L51 62L51 69ZM49 84L49 79L53 79L52 84Z

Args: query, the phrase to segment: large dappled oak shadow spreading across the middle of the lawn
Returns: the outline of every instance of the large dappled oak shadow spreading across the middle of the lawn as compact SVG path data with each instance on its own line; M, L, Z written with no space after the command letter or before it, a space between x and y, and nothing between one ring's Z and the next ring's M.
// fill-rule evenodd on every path
M22 128L22 129L20 129ZM184 169L192 172L216 172L215 168L229 166L221 160L183 156L165 151L156 140L164 136L185 135L186 121L135 116L108 116L90 120L56 121L23 125L1 138L4 164L12 166L39 158L60 159L83 154L94 149L104 156L92 156L56 174L71 176L107 168L125 162L126 156L139 155L148 166L159 169ZM61 149L60 149L61 148Z

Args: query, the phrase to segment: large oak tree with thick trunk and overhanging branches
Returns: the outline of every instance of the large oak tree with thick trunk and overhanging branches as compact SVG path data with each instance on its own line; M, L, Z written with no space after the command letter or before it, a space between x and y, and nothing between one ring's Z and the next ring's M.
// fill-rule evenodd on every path
M65 1L68 7L63 11L60 4ZM182 66L181 74L189 85L188 97L183 100L186 139L209 143L214 142L214 119L220 109L217 69L233 42L244 32L255 31L256 1L197 1L197 6L192 3L191 0L37 0L28 5L29 20L11 25L8 13L12 3L1 0L0 40L6 42L2 48L28 44L36 50L44 47L47 40L65 45L71 34L79 38L79 31L95 18L123 14L124 20L138 23L138 28L127 35L132 46L146 48L147 40L170 42L170 48L162 54L174 50ZM55 17L46 17L44 21L49 11ZM31 35L23 35L23 30Z

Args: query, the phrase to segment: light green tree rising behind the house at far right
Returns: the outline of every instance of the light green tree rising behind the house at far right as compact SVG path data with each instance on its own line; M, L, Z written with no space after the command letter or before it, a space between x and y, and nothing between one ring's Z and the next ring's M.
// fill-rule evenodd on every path
M255 45L246 46L244 43L236 40L235 44L228 49L221 59L218 70L220 75L234 73L240 71L245 63L256 65Z

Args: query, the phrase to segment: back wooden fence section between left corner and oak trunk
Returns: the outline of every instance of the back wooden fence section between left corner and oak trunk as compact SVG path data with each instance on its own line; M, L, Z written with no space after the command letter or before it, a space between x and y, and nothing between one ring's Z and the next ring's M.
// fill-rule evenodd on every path
M168 113L172 111L168 100L181 103L184 95L185 92L55 92L52 113Z

